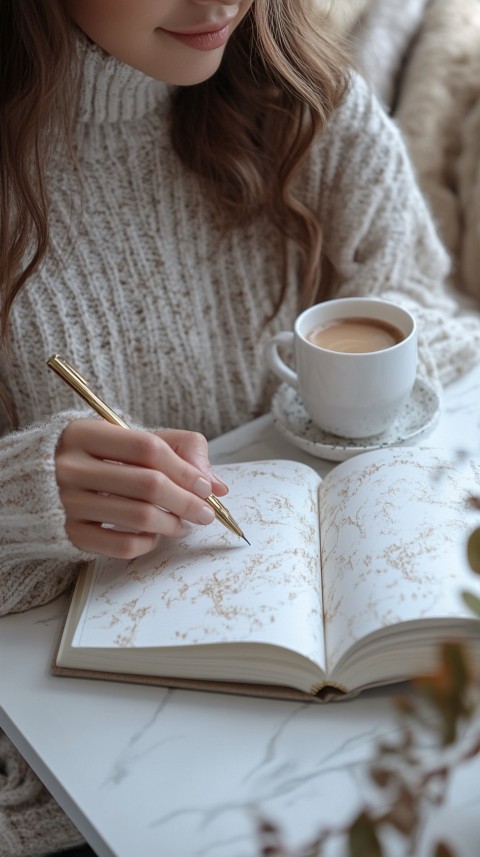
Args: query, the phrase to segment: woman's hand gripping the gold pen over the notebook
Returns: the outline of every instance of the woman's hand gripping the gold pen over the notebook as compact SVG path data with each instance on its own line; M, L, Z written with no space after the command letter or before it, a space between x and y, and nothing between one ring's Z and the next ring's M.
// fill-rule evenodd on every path
M212 523L205 498L228 490L213 474L202 435L129 431L96 419L66 427L55 469L70 540L122 559L148 553L158 535L183 535L184 521Z

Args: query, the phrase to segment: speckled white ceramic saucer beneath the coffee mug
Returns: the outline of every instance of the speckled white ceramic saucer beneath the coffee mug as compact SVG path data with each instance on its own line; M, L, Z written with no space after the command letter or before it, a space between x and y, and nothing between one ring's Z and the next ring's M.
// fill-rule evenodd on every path
M361 452L384 446L415 443L435 427L440 414L440 398L424 379L417 378L403 411L382 434L359 440L341 438L318 428L307 414L298 392L282 384L272 399L272 416L278 431L294 446L317 458L344 461Z

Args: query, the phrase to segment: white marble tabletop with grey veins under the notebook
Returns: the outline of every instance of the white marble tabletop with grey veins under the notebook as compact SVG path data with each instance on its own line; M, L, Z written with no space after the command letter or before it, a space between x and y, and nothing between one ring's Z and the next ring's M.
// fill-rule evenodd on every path
M480 452L480 367L422 441ZM263 417L211 445L215 461L301 458ZM0 620L0 727L99 857L258 857L256 813L290 845L350 818L364 762L395 728L388 690L313 706L49 674L65 600ZM432 816L479 853L480 759ZM427 837L428 838L428 837ZM329 854L340 854L334 844ZM426 845L422 853L427 854ZM420 855L417 855L420 857Z

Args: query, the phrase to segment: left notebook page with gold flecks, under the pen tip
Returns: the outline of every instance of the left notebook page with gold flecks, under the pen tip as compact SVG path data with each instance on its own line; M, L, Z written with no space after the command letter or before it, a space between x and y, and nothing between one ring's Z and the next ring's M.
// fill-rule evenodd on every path
M293 461L221 468L252 546L221 524L163 539L149 556L97 564L74 646L257 641L325 665L320 477Z

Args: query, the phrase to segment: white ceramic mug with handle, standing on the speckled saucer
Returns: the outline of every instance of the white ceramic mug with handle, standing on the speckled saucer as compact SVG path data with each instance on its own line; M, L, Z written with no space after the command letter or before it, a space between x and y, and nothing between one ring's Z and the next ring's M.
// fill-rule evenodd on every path
M395 344L375 351L333 351L311 342L313 330L342 319L368 319L393 325ZM362 323L361 323L362 324ZM394 341L394 340L392 340ZM279 354L294 347L296 371ZM417 329L402 307L377 298L339 298L306 309L294 330L277 333L266 345L271 369L298 389L313 422L345 438L364 438L385 431L405 405L417 370Z

